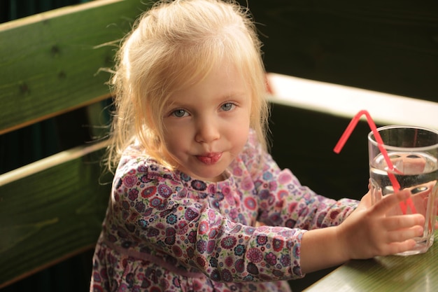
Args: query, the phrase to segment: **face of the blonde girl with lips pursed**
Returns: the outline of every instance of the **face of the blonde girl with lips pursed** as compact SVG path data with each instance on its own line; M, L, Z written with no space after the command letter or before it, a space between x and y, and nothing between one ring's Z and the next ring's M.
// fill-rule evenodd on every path
M164 110L164 143L176 167L194 179L220 181L248 139L251 96L225 62L177 91Z

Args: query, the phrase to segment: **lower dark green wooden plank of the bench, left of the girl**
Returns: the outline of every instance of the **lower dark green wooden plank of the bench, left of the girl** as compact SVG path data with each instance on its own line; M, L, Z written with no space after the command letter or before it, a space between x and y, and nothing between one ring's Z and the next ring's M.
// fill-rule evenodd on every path
M94 246L111 176L101 176L102 146L92 147L0 176L0 288Z

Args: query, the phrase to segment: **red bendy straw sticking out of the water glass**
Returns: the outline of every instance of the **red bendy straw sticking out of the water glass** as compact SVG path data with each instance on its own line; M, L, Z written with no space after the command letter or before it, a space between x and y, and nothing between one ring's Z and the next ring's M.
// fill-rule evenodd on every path
M393 185L394 193L396 193L400 190L400 183L395 178L393 172L398 172L398 173L401 172L398 169L394 168L393 162L390 160L388 152L386 152L386 149L383 147L383 140L379 134L379 131L377 131L376 124L374 123L374 120L369 115L368 111L362 109L362 111L356 113L356 115L353 117L353 119L351 119L351 122L346 127L346 130L342 134L341 139L339 139L336 146L334 146L333 151L338 154L339 152L341 152L342 147L344 147L344 145L346 144L346 141L350 137L351 132L353 132L355 126L358 125L359 119L362 115L365 115L367 117L369 128L372 130L374 137L376 138L377 146L379 147L379 150L382 153L383 158L385 158L386 165L388 165L388 168L390 169L390 172L388 172L388 178L391 184ZM411 197L407 199L407 204L409 208L411 208L412 213L415 214L416 208L414 206L414 203L412 202ZM403 214L407 213L407 206L406 204L404 204L404 202L400 202L400 208L402 209Z

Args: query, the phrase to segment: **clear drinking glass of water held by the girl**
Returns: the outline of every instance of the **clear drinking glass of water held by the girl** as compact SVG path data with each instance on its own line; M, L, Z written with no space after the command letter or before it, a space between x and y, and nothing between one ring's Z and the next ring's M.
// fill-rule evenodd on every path
M376 142L373 132L368 134L372 203L395 192L390 176L395 176L400 190L411 190L411 197L387 215L419 213L425 216L423 236L415 238L414 249L400 255L424 253L433 244L437 220L438 131L406 125L379 127L377 130L383 145ZM382 146L388 155L381 153Z

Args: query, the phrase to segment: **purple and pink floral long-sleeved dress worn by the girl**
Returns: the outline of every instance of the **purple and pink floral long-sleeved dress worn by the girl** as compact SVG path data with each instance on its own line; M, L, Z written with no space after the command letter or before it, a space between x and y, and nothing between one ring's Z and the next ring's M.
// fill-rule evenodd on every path
M301 186L253 132L227 176L192 179L130 146L115 172L90 291L290 291L285 280L304 277L304 232L341 223L358 204Z

